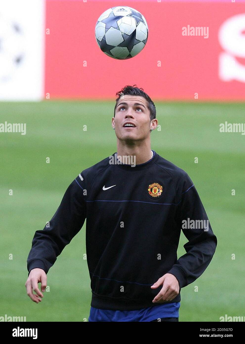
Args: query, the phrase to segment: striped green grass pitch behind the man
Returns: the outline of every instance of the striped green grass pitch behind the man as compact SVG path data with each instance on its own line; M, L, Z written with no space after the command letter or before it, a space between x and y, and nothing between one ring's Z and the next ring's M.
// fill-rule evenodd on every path
M34 232L52 218L71 181L116 151L111 128L114 104L114 100L1 103L0 122L26 123L26 135L0 133L0 316L26 316L26 321L88 319L91 289L83 259L85 225L49 270L50 292L39 304L26 294L26 259ZM152 132L152 149L189 174L218 237L207 270L181 290L179 321L244 316L245 136L220 133L219 125L244 123L245 105L198 100L157 102L156 109L161 131ZM178 257L185 254L186 241L181 233Z

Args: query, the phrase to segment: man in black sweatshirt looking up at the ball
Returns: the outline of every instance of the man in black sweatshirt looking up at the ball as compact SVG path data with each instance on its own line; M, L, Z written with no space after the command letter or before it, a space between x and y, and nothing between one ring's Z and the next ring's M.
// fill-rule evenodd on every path
M46 273L87 219L89 321L178 321L181 288L204 272L217 245L188 174L151 150L156 108L134 86L116 93L117 152L69 185L27 258L27 294L38 303L37 283L44 291ZM177 259L181 229L187 253Z

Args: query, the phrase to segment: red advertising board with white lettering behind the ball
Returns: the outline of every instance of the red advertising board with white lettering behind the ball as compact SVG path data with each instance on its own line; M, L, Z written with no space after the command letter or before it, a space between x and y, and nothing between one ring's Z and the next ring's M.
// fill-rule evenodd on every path
M45 94L114 99L122 87L136 84L155 100L245 98L243 3L120 4L141 12L149 27L146 46L128 60L105 55L94 36L97 19L118 2L46 1ZM196 27L206 37L191 35Z

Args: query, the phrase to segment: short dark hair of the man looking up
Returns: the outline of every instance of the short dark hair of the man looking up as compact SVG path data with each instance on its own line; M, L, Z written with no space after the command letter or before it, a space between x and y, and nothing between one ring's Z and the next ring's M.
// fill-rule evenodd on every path
M135 86L135 87L134 87ZM154 119L156 118L156 107L153 103L153 101L151 100L151 98L148 96L148 94L146 94L143 90L143 88L138 88L137 85L127 85L124 86L121 91L116 92L116 96L118 96L118 98L116 98L116 104L114 107L114 117L115 117L115 111L116 111L116 106L118 104L118 101L120 100L120 97L122 95L129 95L129 96L141 96L143 98L145 98L147 100L147 105L148 105L148 109L150 110L150 119Z

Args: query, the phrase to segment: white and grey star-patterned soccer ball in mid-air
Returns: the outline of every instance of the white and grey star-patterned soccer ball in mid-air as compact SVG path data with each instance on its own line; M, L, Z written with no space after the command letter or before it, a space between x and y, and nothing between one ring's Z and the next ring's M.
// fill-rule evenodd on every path
M98 19L95 37L103 53L118 60L126 60L144 48L148 25L145 17L133 8L112 7Z

